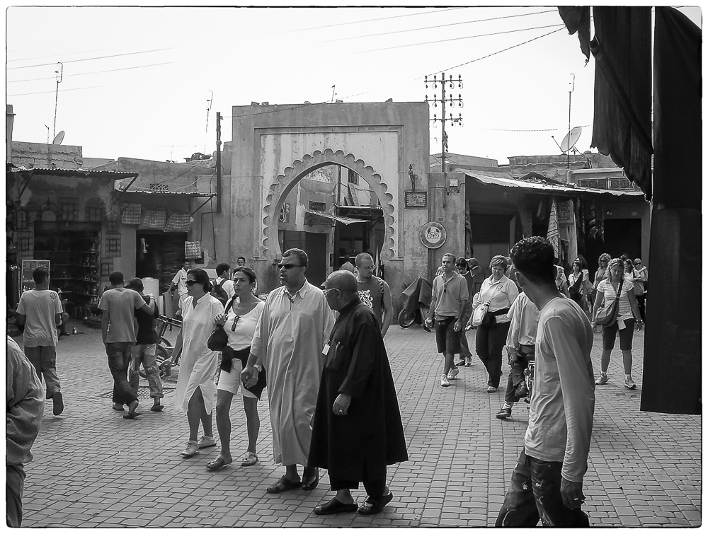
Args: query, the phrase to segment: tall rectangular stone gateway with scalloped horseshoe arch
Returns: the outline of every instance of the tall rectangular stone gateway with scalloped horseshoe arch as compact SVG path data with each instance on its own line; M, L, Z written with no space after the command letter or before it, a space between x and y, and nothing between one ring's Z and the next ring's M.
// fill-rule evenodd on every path
M326 173L326 167L339 166L362 178L366 182L362 187L379 201L375 250L394 294L403 289L404 279L425 275L427 250L418 238L418 229L428 221L428 210L406 209L404 193L412 185L409 169L418 176L417 194L428 193L428 115L428 104L423 102L235 106L230 262L235 264L236 257L246 256L247 263L256 269L259 287L273 289L278 285L275 264L282 254L285 233L302 233L308 238L326 240L326 250L319 248L321 257L317 260L326 272L337 268L338 257L333 260L333 255L338 250L333 247L338 245L333 243L333 231L326 236L324 232L317 234L316 228L307 226L307 220L303 226L303 214L312 214L311 205L317 202L300 195L302 188L297 189L297 195L288 195L313 171ZM328 186L322 180L318 187L326 190ZM333 186L329 187L332 198ZM299 227L297 231L281 229L279 234L278 220L284 202L291 204L292 213L297 213ZM338 216L343 218L339 209L319 209L319 213L329 216L336 226L340 224ZM288 224L292 227L293 222ZM287 245L292 246L290 241ZM360 252L361 247L359 243L346 252Z

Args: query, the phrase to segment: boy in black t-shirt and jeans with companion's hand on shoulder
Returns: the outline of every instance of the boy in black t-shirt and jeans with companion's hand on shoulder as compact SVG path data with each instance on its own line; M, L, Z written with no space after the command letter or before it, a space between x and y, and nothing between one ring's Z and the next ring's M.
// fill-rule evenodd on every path
M146 303L150 303L151 296L145 296L142 291L144 289L142 280L134 278L127 284L127 289L137 291ZM132 347L130 368L128 369L128 381L130 387L135 390L140 383L140 364L145 369L147 383L150 388L150 397L154 404L152 405L153 412L162 410L163 405L160 399L164 397L162 393L162 381L160 380L160 370L156 362L157 354L157 332L155 330L155 319L160 316L160 312L155 306L153 313L144 312L142 309L135 310L135 322L137 323L137 335L135 345Z

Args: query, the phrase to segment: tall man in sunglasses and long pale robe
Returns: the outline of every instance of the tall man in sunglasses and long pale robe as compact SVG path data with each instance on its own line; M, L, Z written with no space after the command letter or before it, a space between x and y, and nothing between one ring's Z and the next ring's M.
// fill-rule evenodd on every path
M312 418L322 373L322 351L334 317L321 289L305 278L307 254L291 248L282 255L282 286L270 292L256 326L249 361L241 380L250 386L261 364L268 376L273 459L285 465L285 475L266 489L281 493L302 487L314 489L317 468L307 467ZM297 465L303 465L302 480Z

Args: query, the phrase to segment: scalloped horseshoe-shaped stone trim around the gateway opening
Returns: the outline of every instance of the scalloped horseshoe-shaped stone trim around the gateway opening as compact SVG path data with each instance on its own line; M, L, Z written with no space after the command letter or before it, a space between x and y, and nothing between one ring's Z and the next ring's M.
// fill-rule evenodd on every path
M282 207L282 203L285 202L293 187L305 175L312 173L313 170L332 164L353 170L366 180L372 191L375 192L384 211L384 243L381 248L380 258L385 261L396 256L393 196L387 192L387 185L382 182L381 176L375 173L373 168L367 166L363 160L357 159L353 154L345 154L341 150L325 149L324 151L318 150L312 154L306 154L302 157L302 160L294 161L292 166L285 168L283 173L275 177L273 182L270 183L261 214L261 257L279 260L282 255L280 243L278 242L278 218L276 214L280 213L280 207Z

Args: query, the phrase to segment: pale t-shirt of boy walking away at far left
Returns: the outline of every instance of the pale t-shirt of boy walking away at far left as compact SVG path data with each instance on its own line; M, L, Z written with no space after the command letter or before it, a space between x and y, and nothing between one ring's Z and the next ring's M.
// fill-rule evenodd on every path
M21 294L17 313L27 317L22 335L25 347L56 347L59 337L55 316L62 311L57 291L30 289Z

